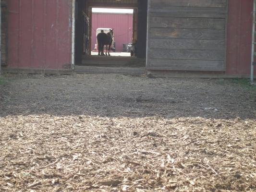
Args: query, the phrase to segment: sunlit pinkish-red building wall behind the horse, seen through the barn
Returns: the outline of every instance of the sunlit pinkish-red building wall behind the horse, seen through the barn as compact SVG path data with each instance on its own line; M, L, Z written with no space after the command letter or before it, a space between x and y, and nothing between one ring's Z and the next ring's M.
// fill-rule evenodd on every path
M122 51L122 44L131 43L133 38L133 14L93 13L92 50L96 44L97 28L113 28L116 51Z

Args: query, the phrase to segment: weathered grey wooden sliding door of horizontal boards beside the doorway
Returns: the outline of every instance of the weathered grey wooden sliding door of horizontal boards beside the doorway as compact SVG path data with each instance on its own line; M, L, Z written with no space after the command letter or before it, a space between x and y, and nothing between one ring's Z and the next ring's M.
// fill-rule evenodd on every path
M225 71L227 0L149 0L148 70Z

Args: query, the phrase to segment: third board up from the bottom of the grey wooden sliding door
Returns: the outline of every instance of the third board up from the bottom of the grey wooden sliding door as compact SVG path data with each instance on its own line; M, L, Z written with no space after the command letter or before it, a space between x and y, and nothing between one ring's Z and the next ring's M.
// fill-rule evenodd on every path
M150 48L168 49L198 49L198 50L223 50L225 40L205 40L205 39L159 39L150 40Z

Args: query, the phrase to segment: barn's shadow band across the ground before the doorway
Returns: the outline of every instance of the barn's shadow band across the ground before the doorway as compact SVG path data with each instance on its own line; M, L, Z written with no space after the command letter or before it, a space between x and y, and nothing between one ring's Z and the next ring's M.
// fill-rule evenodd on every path
M0 117L49 114L255 119L255 91L228 80L125 75L11 79L3 87Z

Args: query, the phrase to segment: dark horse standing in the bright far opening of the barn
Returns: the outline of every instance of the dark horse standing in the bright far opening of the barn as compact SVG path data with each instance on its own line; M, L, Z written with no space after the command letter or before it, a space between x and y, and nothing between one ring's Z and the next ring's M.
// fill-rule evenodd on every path
M104 46L106 45L106 55L107 51L109 51L109 56L110 56L110 47L113 42L113 30L110 29L110 32L105 34L103 30L98 34L97 36L97 41L98 41L98 55L104 55ZM108 48L109 46L109 48Z

